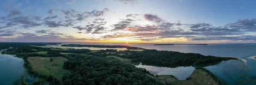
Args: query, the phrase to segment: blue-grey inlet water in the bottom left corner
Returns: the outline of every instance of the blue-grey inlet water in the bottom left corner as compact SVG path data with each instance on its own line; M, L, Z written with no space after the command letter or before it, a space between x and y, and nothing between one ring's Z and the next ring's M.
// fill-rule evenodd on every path
M0 54L0 85L17 85L24 77L26 77L26 82L33 82L37 79L26 73L23 68L23 59Z

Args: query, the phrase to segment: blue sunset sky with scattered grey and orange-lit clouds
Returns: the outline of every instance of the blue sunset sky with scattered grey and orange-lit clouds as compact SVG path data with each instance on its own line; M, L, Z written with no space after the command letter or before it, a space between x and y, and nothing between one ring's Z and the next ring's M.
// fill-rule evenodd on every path
M255 0L0 0L0 42L256 43Z

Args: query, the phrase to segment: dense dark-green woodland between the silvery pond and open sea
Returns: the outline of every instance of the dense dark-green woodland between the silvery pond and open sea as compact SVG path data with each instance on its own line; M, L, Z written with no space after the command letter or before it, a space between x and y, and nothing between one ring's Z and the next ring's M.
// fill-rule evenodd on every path
M202 66L227 61L230 59L236 59L232 57L214 57L204 56L194 53L180 53L175 51L157 51L157 50L145 50L136 51L131 54L125 54L120 57L130 58L132 62L142 62L152 65L163 66L178 66L178 65L192 65Z

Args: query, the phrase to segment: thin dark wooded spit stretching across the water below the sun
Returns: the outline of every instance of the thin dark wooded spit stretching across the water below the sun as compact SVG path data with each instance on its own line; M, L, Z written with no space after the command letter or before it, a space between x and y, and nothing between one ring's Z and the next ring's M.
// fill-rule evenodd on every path
M94 48L127 48L127 49L144 49L138 47L130 47L125 45L77 45L77 44L68 44L68 45L61 45L66 47L94 47Z

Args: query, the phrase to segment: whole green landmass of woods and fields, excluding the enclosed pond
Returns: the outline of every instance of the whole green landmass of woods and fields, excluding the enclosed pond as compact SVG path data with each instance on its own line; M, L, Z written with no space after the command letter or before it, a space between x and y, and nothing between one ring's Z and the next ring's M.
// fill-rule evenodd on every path
M45 45L44 43L36 44ZM6 48L2 54L12 54L22 58L26 71L31 76L38 77L38 80L31 83L27 83L23 79L20 82L22 85L221 85L221 80L204 67L222 61L236 60L232 57L157 51L122 45L69 44L64 46L144 50L91 51L90 49L74 48L42 48L27 43L1 45L4 45L1 48ZM178 80L172 75L154 75L145 68L137 68L134 66L137 62L166 67L194 66L196 69L186 80Z

